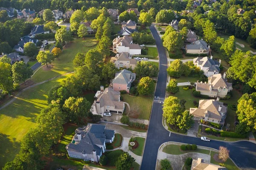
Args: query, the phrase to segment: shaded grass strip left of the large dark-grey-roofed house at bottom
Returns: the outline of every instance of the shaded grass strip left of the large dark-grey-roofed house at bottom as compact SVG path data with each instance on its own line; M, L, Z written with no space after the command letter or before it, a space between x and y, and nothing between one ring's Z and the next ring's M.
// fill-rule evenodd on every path
M69 124L67 130L64 132L64 135L62 135L61 141L58 144L57 150L61 153L67 153L66 145L71 143L73 135L75 135L75 130L78 127L75 124Z

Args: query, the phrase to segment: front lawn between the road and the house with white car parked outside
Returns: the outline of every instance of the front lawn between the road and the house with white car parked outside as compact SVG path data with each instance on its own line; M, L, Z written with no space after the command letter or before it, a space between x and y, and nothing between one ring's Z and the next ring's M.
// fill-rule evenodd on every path
M140 115L139 118L149 120L151 107L153 102L153 95L143 96L131 96L128 94L122 95L123 101L127 102L130 107L139 106Z

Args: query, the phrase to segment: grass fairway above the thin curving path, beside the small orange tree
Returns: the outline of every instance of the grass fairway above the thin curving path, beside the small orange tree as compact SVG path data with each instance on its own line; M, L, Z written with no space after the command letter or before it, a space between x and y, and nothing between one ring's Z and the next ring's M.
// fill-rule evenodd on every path
M96 45L96 40L93 37L75 39L73 42L68 43L67 47L63 49L59 60L55 59L55 61L52 61L53 68L51 70L44 70L43 68L40 68L31 78L31 80L38 83L67 72L74 71L73 59L75 58L76 54L78 52L86 53L89 49L95 48L95 46L85 47L93 44Z

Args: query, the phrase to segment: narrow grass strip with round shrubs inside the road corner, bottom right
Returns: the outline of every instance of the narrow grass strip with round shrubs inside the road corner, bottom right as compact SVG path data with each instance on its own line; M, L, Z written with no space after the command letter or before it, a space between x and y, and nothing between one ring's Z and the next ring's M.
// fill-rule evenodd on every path
M196 153L204 153L209 155L210 151L209 150L203 150L203 149L197 149L197 150L180 150L180 146L179 145L175 145L175 144L169 144L163 148L163 152L164 153L168 153L168 154L172 154L172 155L180 155L183 153L190 153L190 152L196 152Z

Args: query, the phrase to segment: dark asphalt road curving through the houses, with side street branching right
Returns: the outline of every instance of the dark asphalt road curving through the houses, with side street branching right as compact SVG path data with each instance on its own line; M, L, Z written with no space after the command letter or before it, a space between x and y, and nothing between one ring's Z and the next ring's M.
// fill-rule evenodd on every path
M156 40L156 45L159 53L159 75L157 79L157 87L155 96L164 98L166 81L167 81L167 56L161 39L154 26L150 26L150 30ZM151 110L151 118L148 127L148 134L145 142L145 149L140 169L154 170L157 161L157 152L161 144L167 141L182 142L187 144L197 144L205 147L218 149L219 146L225 146L230 150L230 158L241 169L255 170L256 169L256 144L248 141L240 142L223 142L211 141L204 142L199 138L177 135L169 133L162 125L162 104L154 101Z

